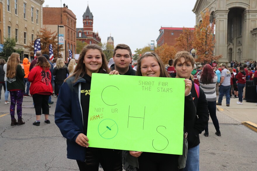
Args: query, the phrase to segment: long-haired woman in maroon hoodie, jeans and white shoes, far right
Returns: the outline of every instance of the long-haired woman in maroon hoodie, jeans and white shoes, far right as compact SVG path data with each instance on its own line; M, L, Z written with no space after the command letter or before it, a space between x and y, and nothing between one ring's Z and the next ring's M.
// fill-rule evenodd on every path
M243 89L245 87L245 83L246 83L246 74L244 71L244 67L240 66L239 67L239 72L236 75L236 79L237 79L237 88L238 88L238 96L239 96L239 100L237 102L238 105L242 105L243 104Z

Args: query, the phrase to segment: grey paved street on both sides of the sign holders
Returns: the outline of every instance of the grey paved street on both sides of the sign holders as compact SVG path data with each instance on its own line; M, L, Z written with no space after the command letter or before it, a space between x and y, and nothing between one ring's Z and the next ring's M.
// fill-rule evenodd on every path
M44 123L44 116L42 116L40 126L33 126L34 108L22 108L22 117L26 123L21 126L11 126L9 105L4 104L3 90L1 99L1 171L79 170L76 161L66 158L66 141L54 124L55 103L50 108L51 124ZM53 97L52 100L56 102L57 98ZM217 116L221 137L215 135L211 119L209 137L200 135L200 170L256 170L257 133L242 125L241 122L255 121L257 106L246 102L243 105L237 105L234 102L236 100L231 99L230 107L225 107L224 104L219 106ZM23 98L23 106L32 105L32 103L32 98ZM244 112L243 107L246 106L251 108ZM15 117L17 117L16 114Z

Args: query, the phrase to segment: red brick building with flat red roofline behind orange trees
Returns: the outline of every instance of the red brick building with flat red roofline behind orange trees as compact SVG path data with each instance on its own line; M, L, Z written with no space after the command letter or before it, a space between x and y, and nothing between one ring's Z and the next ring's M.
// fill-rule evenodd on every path
M189 28L190 30L195 30L195 28ZM182 33L183 28L173 28L173 27L161 27L159 29L159 36L156 39L157 46L162 46L165 43L169 46L174 46L176 44L176 38L180 36Z

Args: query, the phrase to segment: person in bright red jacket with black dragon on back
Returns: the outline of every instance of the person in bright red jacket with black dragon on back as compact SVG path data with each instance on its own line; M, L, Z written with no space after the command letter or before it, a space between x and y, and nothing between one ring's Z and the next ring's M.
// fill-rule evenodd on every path
M45 123L50 124L48 98L53 93L51 84L50 64L46 57L39 56L37 64L29 72L28 80L31 82L30 94L32 94L36 111L36 121L33 125L40 125L40 116L45 114Z

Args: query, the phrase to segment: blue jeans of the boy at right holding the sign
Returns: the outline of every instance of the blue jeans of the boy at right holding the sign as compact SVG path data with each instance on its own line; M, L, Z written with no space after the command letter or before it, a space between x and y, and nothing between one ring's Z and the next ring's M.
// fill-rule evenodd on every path
M199 171L199 144L187 150L187 162L184 171Z

